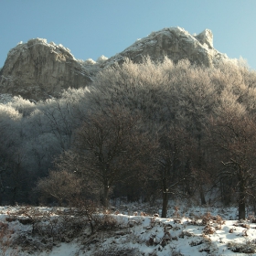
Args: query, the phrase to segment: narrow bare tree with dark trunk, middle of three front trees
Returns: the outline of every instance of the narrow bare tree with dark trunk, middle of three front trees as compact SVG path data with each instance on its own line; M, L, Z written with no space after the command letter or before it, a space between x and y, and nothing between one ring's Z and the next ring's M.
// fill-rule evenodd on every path
M178 187L187 177L185 172L191 141L181 127L169 127L159 133L155 154L157 165L153 178L157 180L162 193L162 218L166 218L169 195L177 195Z

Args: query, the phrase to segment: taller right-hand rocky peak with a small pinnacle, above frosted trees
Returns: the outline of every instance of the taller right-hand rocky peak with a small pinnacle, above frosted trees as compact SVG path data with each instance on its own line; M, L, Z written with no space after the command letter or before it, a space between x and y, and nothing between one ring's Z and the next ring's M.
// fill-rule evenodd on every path
M181 27L168 27L138 39L131 47L108 59L106 63L112 65L115 61L123 62L125 58L141 62L145 56L153 60L161 60L167 56L174 62L189 59L192 63L207 67L228 59L226 54L213 48L213 35L209 29L192 36Z

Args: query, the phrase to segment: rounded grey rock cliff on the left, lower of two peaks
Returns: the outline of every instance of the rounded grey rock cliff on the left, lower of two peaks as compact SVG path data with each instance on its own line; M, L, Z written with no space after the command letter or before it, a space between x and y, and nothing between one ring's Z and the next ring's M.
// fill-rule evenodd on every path
M11 49L0 73L1 93L34 100L58 97L63 89L90 82L89 73L68 48L39 38Z

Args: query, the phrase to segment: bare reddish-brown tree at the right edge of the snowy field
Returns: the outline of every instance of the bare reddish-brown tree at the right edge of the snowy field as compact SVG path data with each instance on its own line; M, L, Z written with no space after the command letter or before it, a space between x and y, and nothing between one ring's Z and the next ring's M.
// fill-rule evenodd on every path
M245 207L248 196L256 187L256 120L247 114L226 112L213 121L213 141L219 148L219 179L233 179L237 192L239 219L245 219Z

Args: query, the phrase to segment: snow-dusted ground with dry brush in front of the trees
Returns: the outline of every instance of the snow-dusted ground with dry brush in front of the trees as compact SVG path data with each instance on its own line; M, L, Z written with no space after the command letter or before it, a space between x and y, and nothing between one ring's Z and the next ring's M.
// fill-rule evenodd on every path
M145 215L143 210L155 212ZM0 208L0 255L256 255L256 219L237 208L126 204L88 219L69 208ZM1 254L2 253L2 254Z

